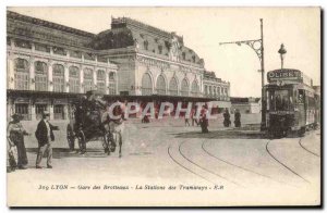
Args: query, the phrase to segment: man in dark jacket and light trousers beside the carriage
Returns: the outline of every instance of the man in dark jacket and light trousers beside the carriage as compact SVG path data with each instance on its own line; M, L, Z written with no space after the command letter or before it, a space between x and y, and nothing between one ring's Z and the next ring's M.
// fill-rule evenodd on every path
M59 130L58 126L53 126L49 123L50 113L48 111L43 112L43 120L38 123L35 131L36 139L38 141L38 152L36 158L36 168L43 168L40 166L44 153L47 152L47 167L52 168L52 145L55 141L55 135L52 130Z

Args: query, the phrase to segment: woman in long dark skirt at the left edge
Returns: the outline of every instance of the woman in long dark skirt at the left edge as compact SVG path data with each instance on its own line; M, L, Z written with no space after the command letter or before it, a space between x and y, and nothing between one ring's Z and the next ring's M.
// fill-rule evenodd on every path
M12 115L13 121L9 123L7 129L7 139L9 142L9 154L10 154L10 163L12 164L12 170L14 170L13 163L13 148L16 147L17 149L17 168L26 170L27 168L27 153L24 143L24 136L29 135L23 127L21 120L23 118L20 114Z

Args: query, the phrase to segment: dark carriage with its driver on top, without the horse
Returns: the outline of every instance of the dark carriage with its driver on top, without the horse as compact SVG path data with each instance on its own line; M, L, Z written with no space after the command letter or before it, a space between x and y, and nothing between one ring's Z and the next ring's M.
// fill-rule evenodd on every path
M97 100L94 98L97 96ZM85 97L72 100L69 108L69 124L66 126L66 139L71 151L74 151L75 141L78 142L80 153L86 152L86 142L100 140L105 152L114 151L116 142L112 134L105 128L102 121L106 104L98 101L94 91Z

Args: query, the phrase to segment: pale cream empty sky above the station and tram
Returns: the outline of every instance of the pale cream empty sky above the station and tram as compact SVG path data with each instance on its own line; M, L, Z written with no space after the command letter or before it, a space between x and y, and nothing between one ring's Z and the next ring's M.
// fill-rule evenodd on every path
M259 97L261 62L249 46L219 42L261 38L264 20L265 71L298 68L320 83L320 11L318 8L8 8L10 11L98 34L111 16L128 16L183 36L184 45L205 61L207 71L231 83L232 97ZM266 75L265 75L266 82Z

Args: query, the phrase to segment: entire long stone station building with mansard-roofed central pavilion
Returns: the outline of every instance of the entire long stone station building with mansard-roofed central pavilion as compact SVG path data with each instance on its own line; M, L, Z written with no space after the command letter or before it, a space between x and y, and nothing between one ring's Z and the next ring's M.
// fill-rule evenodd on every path
M70 100L88 90L229 102L230 84L207 77L204 60L175 33L129 17L112 17L99 34L10 11L7 20L8 117L34 121L48 110L51 120L66 120Z

